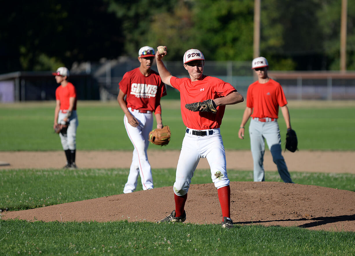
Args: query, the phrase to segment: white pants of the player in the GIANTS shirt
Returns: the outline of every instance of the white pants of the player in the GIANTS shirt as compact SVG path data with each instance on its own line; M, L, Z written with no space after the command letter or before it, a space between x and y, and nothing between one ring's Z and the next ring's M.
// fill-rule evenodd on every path
M138 110L128 108L134 117L139 121L138 127L133 127L128 123L126 115L124 116L124 124L128 137L130 138L134 150L130 173L127 183L123 189L123 193L131 193L137 188L138 175L141 176L143 190L152 189L153 177L151 165L148 161L147 149L149 146L148 135L153 128L152 112L140 113Z

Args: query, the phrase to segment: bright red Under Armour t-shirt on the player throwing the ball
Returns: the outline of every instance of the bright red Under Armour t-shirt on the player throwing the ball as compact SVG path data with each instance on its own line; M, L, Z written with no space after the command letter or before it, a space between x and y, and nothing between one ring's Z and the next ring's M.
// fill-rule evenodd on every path
M222 123L225 106L218 106L217 113L190 111L185 104L217 99L228 95L236 89L217 77L203 76L201 80L192 82L190 78L171 77L170 84L180 91L182 122L195 130L219 128Z

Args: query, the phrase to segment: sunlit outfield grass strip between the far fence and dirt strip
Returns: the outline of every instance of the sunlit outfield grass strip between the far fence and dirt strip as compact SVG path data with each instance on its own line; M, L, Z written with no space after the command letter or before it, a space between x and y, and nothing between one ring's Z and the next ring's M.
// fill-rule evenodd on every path
M304 106L294 102L289 105L291 124L296 130L300 150L355 150L355 104L345 101L344 104L320 102ZM154 149L179 150L185 135L179 101L162 100L162 106L163 123L170 126L172 138L168 146ZM61 150L58 134L53 132L54 107L55 102L1 104L5 111L0 113L0 150ZM247 132L244 140L237 138L244 108L245 102L226 106L221 126L226 149L250 149ZM279 117L284 143L286 127L281 113ZM117 102L78 102L78 119L78 150L133 149Z

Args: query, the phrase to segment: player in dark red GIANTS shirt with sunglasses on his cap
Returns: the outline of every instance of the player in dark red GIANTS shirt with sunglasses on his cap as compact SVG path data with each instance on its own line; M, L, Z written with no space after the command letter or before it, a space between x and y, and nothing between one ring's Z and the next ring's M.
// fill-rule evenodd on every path
M141 176L143 190L154 188L152 169L147 156L148 135L153 128L153 112L157 128L163 128L160 98L166 95L165 84L159 74L151 69L154 56L152 47L142 47L138 52L140 66L126 72L119 83L117 101L125 113L124 124L134 147L130 173L123 193L135 191L138 175Z

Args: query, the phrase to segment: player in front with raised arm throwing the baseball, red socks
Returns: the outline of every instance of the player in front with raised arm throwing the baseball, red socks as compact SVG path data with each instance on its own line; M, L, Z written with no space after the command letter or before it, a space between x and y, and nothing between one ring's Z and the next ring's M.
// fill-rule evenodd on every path
M166 49L166 48L165 48ZM167 54L155 54L160 77L165 84L180 91L181 116L186 126L185 137L173 186L175 210L160 222L183 222L186 220L185 202L191 178L200 158L207 158L211 167L211 178L217 188L222 208L222 227L233 228L230 218L230 187L226 172L225 151L220 134L220 124L225 105L244 101L243 96L229 83L216 77L203 74L204 56L200 50L190 49L184 54L184 67L189 78L177 78L171 75L162 61ZM185 104L212 99L217 112L187 110Z

